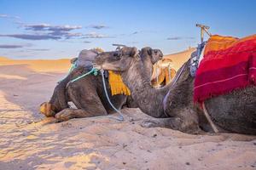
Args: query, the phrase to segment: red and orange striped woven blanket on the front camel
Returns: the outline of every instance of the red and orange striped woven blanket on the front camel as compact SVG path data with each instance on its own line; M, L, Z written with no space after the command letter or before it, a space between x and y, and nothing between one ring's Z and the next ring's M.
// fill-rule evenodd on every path
M195 103L248 85L256 85L256 35L210 37L195 76Z

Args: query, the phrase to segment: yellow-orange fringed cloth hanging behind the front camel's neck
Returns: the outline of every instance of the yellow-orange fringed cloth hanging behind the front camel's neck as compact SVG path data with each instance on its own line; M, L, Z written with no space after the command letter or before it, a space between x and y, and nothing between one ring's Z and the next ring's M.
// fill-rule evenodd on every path
M114 73L113 71L108 71L109 77L108 82L111 88L111 94L125 94L131 95L131 91L122 80L122 77L119 74Z

